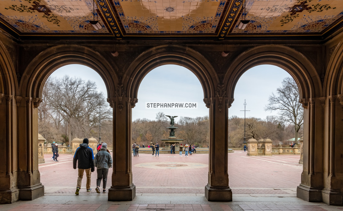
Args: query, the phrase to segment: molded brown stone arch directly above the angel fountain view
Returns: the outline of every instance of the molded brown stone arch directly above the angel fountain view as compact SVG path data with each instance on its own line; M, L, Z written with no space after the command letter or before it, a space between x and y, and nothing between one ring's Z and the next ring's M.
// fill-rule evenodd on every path
M215 96L214 87L218 84L218 78L213 67L199 52L181 46L159 46L140 54L128 68L128 78L123 78L127 84L127 96L137 98L144 76L162 65L179 65L189 69L199 79L204 98Z

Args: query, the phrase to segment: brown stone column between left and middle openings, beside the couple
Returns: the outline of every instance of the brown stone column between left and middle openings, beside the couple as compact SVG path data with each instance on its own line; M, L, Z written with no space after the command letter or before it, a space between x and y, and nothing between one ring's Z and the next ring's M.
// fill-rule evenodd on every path
M107 99L113 108L113 172L109 201L131 201L136 196L131 171L131 112L137 99L124 95L121 85L117 87L116 98Z

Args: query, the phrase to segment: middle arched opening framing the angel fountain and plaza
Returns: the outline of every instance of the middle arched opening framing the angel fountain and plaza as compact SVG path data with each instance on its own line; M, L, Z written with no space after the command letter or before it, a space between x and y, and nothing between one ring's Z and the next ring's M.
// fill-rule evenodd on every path
M135 149L138 156L131 160L137 195L204 194L208 183L209 109L203 103L203 94L196 75L179 65L161 65L144 75L138 102L132 109L130 142L140 145L138 153ZM177 116L175 134L169 133L170 118L165 115ZM150 144L154 147L156 143L159 151L152 155ZM195 152L187 152L187 157L185 144L195 146Z

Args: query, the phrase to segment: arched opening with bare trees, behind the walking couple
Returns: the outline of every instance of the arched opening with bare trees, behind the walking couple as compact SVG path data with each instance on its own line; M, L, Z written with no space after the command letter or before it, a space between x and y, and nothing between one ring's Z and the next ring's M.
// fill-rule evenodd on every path
M65 65L48 75L38 106L38 169L46 195L75 195L78 170L73 169L73 157L84 138L94 155L99 141L107 143L112 154L113 116L106 96L102 77L87 66ZM96 178L95 171L88 193L84 173L80 194L95 194ZM107 178L106 189L110 174Z

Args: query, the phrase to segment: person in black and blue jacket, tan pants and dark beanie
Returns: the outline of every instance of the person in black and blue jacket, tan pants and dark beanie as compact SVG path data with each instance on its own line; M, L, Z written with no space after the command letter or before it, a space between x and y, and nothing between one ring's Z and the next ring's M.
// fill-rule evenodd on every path
M75 194L79 195L81 189L81 182L83 178L83 173L86 172L87 182L86 189L87 192L91 191L91 172L94 172L94 155L93 150L88 146L88 139L83 139L82 143L76 149L73 159L73 168L76 169L76 163L78 166L78 182L76 185Z

